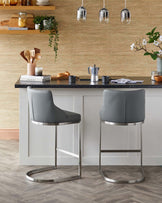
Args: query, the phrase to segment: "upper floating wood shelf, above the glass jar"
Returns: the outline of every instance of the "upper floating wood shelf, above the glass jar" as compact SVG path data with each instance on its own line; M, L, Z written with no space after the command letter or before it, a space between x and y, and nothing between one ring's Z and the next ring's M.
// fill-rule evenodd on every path
M55 6L0 6L0 10L35 10L35 11L53 11Z

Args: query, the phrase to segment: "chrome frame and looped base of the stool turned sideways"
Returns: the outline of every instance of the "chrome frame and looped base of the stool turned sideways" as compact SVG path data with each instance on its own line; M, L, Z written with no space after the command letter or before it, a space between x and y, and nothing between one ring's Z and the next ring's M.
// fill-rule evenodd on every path
M40 169L35 169L35 170L31 170L28 171L26 173L26 178L32 182L37 182L37 183L61 183L61 182L66 182L66 181L72 181L72 180L76 180L76 179L80 179L81 178L81 167L82 167L82 163L81 163L81 133L80 133L80 124L78 123L78 139L79 139L79 146L78 146L78 154L74 154L72 152L68 152L65 151L63 149L59 149L57 148L57 126L58 125L66 125L66 124L76 124L76 123L40 123L40 122L35 122L32 121L32 123L37 124L37 125L53 125L55 126L55 166L49 166L49 167L44 167L44 168L40 168ZM56 170L57 169L57 151L60 151L64 154L73 156L75 158L77 158L79 160L78 163L78 175L75 176L68 176L68 177L62 177L62 178L55 178L55 179L40 179L40 178L35 178L33 177L34 174L38 174L38 173L43 173L46 171L51 171L51 170Z

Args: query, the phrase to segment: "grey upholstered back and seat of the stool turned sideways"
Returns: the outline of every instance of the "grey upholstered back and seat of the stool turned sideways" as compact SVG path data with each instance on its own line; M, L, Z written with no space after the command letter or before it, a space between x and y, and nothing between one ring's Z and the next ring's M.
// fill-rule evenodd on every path
M42 123L78 123L80 114L58 108L50 90L36 90L27 88L30 119Z

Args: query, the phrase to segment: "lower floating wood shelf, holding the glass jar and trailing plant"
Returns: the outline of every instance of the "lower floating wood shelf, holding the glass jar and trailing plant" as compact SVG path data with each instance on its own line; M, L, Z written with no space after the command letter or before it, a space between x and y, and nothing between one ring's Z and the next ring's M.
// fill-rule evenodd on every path
M25 35L25 34L49 34L48 30L40 32L39 30L0 30L0 34L12 34L12 35Z

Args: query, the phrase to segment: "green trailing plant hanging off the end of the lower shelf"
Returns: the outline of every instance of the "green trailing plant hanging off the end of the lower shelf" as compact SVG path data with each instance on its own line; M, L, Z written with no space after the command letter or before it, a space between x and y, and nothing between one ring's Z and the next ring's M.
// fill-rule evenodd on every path
M43 21L46 21L44 26ZM49 46L53 47L55 52L55 60L57 58L58 52L58 42L59 42L59 32L58 32L58 22L56 21L55 16L35 16L34 23L39 22L39 30L43 32L44 30L49 30Z

